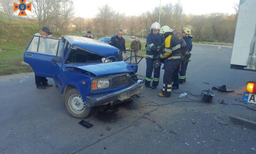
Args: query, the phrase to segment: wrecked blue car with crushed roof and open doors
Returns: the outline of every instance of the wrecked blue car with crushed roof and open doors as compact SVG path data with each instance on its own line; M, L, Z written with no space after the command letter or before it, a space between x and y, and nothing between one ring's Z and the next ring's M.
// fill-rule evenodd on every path
M132 56L116 62L119 49L99 40L33 36L24 52L24 62L35 75L53 78L68 113L83 119L94 106L127 102L139 94L143 80L137 77L139 62L132 59L138 56L132 52Z

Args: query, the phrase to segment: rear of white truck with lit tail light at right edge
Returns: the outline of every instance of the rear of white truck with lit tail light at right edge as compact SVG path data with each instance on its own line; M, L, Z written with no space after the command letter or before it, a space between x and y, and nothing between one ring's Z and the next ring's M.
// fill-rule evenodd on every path
M256 0L240 0L230 68L256 71ZM256 104L256 82L247 82L244 102Z

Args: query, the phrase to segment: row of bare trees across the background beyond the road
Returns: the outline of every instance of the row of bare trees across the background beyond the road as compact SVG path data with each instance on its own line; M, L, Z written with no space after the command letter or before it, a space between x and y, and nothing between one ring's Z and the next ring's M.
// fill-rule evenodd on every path
M0 9L8 15L9 21L13 17L14 0L1 0ZM118 29L127 29L124 34L147 36L151 24L159 21L160 25L167 25L181 31L184 27L192 29L192 35L197 40L233 42L237 22L238 4L234 4L235 14L211 13L205 15L185 15L183 7L176 4L166 4L145 11L138 16L127 16L114 11L108 4L98 7L94 18L74 17L72 0L27 0L32 3L31 19L38 20L38 28L48 26L56 33L85 33L92 31L94 37L111 36ZM18 1L19 3L19 1ZM162 7L165 11L162 12ZM72 28L72 25L75 25Z

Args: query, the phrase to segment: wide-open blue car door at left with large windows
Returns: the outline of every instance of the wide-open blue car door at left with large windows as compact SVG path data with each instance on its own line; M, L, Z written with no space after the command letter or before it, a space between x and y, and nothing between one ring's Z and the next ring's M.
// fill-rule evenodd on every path
M24 62L32 67L35 75L53 78L52 59L62 56L63 46L60 39L34 35L24 52Z

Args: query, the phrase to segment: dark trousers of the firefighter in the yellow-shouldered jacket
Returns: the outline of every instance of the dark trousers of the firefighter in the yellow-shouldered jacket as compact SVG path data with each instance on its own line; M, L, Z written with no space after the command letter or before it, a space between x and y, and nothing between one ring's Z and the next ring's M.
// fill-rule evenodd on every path
M163 77L163 92L162 94L170 97L172 92L173 73L180 66L180 60L168 60Z

